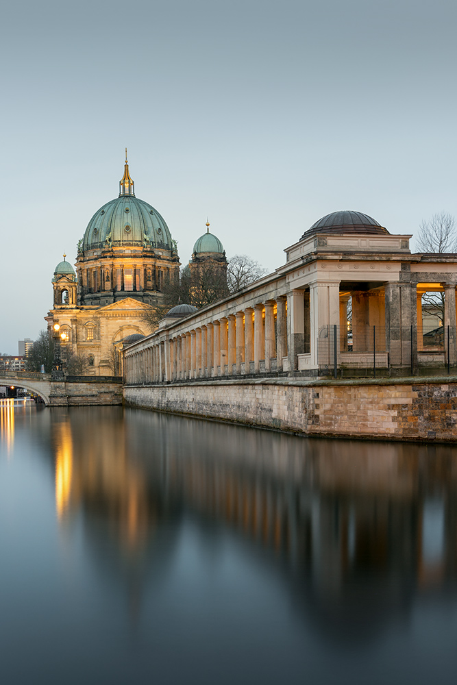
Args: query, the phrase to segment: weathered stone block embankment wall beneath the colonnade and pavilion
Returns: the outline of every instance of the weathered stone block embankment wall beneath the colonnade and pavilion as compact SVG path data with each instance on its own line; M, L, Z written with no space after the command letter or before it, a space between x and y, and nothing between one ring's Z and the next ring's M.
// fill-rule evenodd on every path
M457 441L457 377L125 386L127 406L308 436Z

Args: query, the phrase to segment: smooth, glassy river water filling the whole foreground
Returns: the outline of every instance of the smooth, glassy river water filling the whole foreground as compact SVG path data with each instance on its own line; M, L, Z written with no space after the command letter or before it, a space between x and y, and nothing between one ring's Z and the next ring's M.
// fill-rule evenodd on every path
M3 685L447 684L457 449L0 403Z

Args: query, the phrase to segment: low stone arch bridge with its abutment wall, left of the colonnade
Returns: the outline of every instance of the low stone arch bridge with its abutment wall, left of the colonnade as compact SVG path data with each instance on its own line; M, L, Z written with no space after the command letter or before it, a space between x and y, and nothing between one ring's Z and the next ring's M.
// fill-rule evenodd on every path
M55 379L38 371L0 371L0 386L39 395L46 406L122 404L121 376L67 376Z

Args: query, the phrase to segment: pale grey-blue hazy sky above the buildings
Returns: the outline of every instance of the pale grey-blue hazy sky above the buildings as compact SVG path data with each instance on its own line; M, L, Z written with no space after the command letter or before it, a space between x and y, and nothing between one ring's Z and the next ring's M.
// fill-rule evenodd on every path
M2 5L0 352L45 328L125 147L182 264L207 216L268 271L330 212L457 216L455 1Z

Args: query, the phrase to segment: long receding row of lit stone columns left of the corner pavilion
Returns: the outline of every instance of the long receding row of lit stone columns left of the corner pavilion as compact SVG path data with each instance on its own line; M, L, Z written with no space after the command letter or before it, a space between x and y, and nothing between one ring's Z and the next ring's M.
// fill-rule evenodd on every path
M129 383L282 371L287 356L286 297L239 310L177 335L166 330L125 356Z

